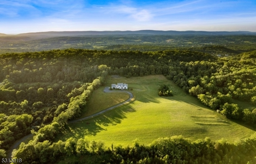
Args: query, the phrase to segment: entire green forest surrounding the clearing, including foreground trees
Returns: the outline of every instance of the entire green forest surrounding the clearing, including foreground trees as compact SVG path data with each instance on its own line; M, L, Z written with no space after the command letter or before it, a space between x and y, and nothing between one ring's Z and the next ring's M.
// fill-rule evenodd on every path
M237 36L239 37L239 36ZM238 46L239 47L239 46ZM241 48L242 49L242 48ZM256 51L217 57L204 51L64 49L0 55L0 156L32 133L13 155L24 163L53 163L62 156L97 156L98 163L255 163L255 135L228 143L157 139L150 146L115 146L86 139L54 142L68 120L80 116L94 89L109 75L164 75L224 117L256 128ZM250 48L249 48L250 50ZM157 91L158 92L158 91ZM23 160L24 159L24 160ZM73 163L81 163L75 161Z

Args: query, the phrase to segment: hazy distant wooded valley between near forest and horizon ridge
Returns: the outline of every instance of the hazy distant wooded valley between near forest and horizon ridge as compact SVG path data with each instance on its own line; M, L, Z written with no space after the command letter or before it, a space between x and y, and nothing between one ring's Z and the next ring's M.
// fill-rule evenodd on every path
M12 52L49 51L52 49L82 48L112 51L191 50L237 55L256 50L255 35L160 35L115 34L84 36L0 36L0 54Z

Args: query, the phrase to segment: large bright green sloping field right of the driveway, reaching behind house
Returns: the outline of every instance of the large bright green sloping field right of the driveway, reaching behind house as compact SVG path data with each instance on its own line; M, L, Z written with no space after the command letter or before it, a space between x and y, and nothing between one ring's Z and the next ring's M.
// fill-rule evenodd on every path
M68 124L64 135L57 140L86 136L110 146L112 143L132 145L134 139L148 144L159 137L183 135L193 140L210 137L213 141L224 138L233 142L254 133L205 107L163 75L132 78L109 76L107 79L108 84L117 82L128 83L128 87L133 89L135 101L91 120ZM169 85L174 96L158 96L161 84ZM102 90L99 88L96 92Z

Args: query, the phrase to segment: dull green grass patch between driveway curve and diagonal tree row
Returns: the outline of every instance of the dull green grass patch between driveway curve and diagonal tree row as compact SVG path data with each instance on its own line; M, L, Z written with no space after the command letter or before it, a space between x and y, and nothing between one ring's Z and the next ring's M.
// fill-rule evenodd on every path
M105 87L100 87L92 93L80 118L97 113L118 103L122 103L129 98L129 94L124 92L116 91L104 93L104 88Z

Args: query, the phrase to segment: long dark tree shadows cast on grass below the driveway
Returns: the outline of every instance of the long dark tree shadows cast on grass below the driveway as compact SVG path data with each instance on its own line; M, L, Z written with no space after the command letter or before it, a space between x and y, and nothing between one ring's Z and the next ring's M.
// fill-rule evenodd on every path
M68 134L72 134L70 137L81 138L87 135L95 136L98 132L106 131L107 129L102 126L117 125L127 118L125 115L129 112L135 112L135 110L126 104L119 109L112 110L103 115L100 115L94 119L84 120L70 125L70 129L67 129Z

